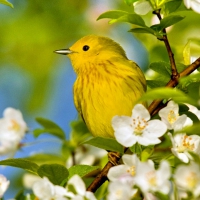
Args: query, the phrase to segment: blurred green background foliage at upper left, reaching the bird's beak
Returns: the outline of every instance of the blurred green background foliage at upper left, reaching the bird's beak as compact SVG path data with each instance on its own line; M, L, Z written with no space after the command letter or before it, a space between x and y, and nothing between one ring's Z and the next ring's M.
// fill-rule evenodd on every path
M30 75L34 87L28 107L34 110L44 105L52 87L57 59L53 51L89 32L84 16L88 1L16 0L13 5L14 9L0 5L0 67L12 65Z

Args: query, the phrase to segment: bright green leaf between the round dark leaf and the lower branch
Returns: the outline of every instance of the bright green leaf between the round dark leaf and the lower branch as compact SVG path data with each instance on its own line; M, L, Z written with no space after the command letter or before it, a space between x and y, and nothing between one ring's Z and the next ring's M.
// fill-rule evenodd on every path
M98 166L90 166L90 165L74 165L69 168L69 178L71 178L74 174L78 174L80 177L83 177L90 172L98 170Z

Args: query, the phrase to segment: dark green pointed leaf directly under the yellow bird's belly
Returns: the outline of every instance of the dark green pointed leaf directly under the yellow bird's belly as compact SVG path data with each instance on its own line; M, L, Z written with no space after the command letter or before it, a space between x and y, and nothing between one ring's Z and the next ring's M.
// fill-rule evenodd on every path
M112 138L94 137L83 142L83 144L90 144L101 149L119 152L121 154L124 153L124 147Z

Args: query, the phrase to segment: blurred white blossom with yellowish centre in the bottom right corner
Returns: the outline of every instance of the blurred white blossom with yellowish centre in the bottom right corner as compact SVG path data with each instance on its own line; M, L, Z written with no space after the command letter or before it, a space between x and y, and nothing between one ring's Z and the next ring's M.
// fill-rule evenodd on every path
M194 162L189 165L178 166L174 173L177 187L183 191L190 191L195 197L200 195L200 166Z

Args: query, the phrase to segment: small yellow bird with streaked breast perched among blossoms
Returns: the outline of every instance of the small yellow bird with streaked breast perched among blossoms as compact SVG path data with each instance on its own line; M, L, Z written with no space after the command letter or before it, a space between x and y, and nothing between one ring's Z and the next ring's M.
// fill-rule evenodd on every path
M74 103L89 131L94 136L114 137L112 118L131 116L136 100L146 91L141 69L107 37L85 36L69 49L55 52L71 60L77 74Z

